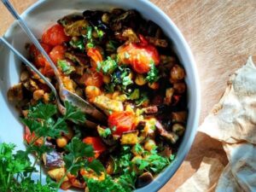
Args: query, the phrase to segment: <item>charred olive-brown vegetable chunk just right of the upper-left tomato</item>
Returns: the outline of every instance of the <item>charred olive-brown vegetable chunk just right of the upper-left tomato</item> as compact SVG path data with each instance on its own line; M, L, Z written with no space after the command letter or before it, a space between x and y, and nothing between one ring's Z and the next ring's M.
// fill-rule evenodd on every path
M64 27L64 32L71 37L86 35L86 27L89 26L86 20L77 20Z

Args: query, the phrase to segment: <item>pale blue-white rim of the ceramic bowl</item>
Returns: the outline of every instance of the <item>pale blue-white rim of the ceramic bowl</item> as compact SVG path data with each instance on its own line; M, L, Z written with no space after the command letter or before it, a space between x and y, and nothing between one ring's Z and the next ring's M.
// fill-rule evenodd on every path
M95 0L96 1L96 0ZM194 94L195 94L195 110L193 110L193 116L194 116L194 121L192 123L192 128L190 131L190 135L188 140L186 140L186 143L182 142L180 144L183 144L183 150L180 151L180 147L178 149L178 153L179 153L179 158L177 160L177 158L172 161L172 163L166 167L166 169L162 172L160 172L161 176L157 176L157 177L161 177L160 178L160 183L149 183L147 186L140 188L140 189L136 189L136 192L145 192L145 191L157 191L159 189L161 189L171 178L172 176L175 174L175 172L177 172L177 169L181 166L181 164L183 163L183 160L185 159L186 155L189 153L189 149L192 146L192 143L194 142L195 139L195 133L197 131L197 126L198 126L198 122L199 122L199 117L200 117L200 110L201 110L201 89L200 89L200 80L199 80L199 75L196 69L196 64L195 64L195 59L194 56L192 54L191 49L189 48L189 44L187 43L187 41L185 40L185 38L183 37L182 32L179 31L179 29L177 28L177 26L175 25L175 23L172 21L172 19L166 15L166 13L164 13L163 10L161 10L159 7L157 7L154 3L151 3L148 0L137 0L138 2L144 3L146 6L150 7L151 9L154 9L156 12L158 12L160 14L160 16L166 20L168 22L168 24L170 26L172 26L173 31L176 33L177 37L179 38L179 40L181 41L181 43L183 44L184 49L186 50L186 54L188 55L188 59L189 59L189 65L192 68L192 72L193 73L193 81L194 81ZM38 6L40 6L42 3L46 3L49 2L49 0L38 0L38 2L33 3L31 6L29 6L20 16L21 18L26 17L26 15L28 15L33 9L38 8ZM15 22L14 21L11 26L9 26L8 30L4 33L4 37L10 37L11 32L13 31L13 28L15 27ZM172 37L171 37L172 38ZM190 112L189 112L190 113ZM167 177L163 177L164 175L166 175L166 173L168 172Z

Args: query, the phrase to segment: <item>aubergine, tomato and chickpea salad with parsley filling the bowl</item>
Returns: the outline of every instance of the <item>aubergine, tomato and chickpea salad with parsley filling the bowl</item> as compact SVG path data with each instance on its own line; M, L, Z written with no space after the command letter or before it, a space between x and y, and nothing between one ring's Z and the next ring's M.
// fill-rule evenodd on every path
M85 10L57 20L39 41L66 89L107 117L90 119L70 102L61 114L44 80L22 65L8 98L20 111L26 148L48 179L86 192L133 191L153 182L175 159L188 116L185 71L160 26L132 9ZM48 61L35 45L25 46L58 90Z

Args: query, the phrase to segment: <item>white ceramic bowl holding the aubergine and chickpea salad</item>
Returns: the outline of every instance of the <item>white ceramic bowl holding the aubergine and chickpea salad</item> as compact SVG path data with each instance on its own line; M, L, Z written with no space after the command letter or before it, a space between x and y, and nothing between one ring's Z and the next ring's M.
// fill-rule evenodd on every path
M157 191L172 177L183 162L186 154L188 154L189 148L195 138L200 112L200 88L198 74L195 69L195 61L189 45L183 38L182 33L177 29L177 26L175 26L167 15L148 0L45 0L33 4L32 7L22 14L22 18L26 20L34 34L37 37L41 37L42 32L64 15L75 12L81 13L85 9L113 8L137 9L144 18L157 23L166 33L166 36L172 39L177 56L181 63L183 63L183 67L187 73L189 119L183 141L177 151L177 157L172 162L172 165L168 166L164 172L161 172L154 179L154 182L142 189L136 190L137 192ZM26 55L25 44L29 40L16 22L9 28L4 37L16 49L19 49L21 53ZM20 61L8 49L0 45L0 63L0 141L15 143L18 149L24 149L25 146L22 141L23 127L18 119L19 114L15 111L14 106L7 101L7 90L10 86L19 82Z

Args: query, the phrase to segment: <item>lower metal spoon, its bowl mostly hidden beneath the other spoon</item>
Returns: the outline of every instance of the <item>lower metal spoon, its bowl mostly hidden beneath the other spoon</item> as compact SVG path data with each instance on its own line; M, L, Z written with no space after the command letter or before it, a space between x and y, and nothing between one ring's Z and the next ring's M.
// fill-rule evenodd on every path
M58 96L57 91L55 90L54 85L51 84L49 82L49 80L47 78L45 78L44 75L41 72L39 72L38 69L36 67L34 67L33 64L30 61L27 61L26 58L23 55L21 55L20 52L17 49L15 49L11 44L9 44L7 40L5 40L4 38L0 37L0 43L1 42L3 42L3 44L5 44L9 49L11 49L14 52L14 54L16 56L18 56L19 59L26 64L27 67L30 67L34 73L37 73L38 76L41 79L44 80L45 84L47 84L49 86L49 89L54 93L54 95L56 97L57 106L58 106L60 112L62 114L65 114L66 113L66 108L64 108L64 106L61 104L60 97ZM96 123L94 123L94 122L92 122L92 121L90 121L88 119L85 120L84 125L89 127L89 128L95 128L97 126Z

